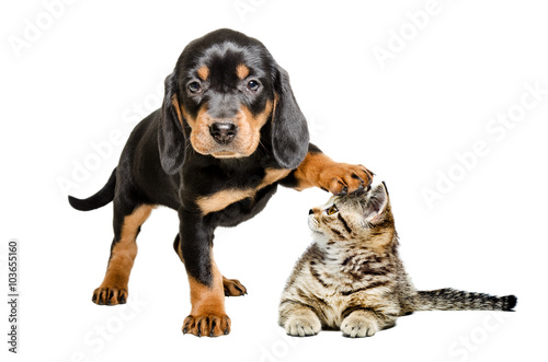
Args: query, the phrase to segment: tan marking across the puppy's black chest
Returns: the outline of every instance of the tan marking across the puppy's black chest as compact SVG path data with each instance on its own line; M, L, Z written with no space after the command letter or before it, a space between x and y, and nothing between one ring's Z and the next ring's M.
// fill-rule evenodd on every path
M238 187L230 186L229 179L227 179L226 187L210 191L205 196L198 196L196 203L203 215L221 211L232 203L255 198L258 191L277 183L289 173L290 170L266 168L264 175L243 175L244 186L238 185Z

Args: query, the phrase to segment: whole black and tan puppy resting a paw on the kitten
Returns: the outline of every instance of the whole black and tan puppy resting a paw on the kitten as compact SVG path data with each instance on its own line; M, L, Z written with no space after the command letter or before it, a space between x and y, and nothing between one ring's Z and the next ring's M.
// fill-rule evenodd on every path
M156 206L167 206L179 212L174 248L191 287L183 332L226 335L225 295L246 289L217 269L215 229L255 215L278 184L342 195L362 190L370 177L309 143L288 75L260 42L230 30L209 33L185 47L165 79L161 109L136 126L103 189L85 200L69 197L78 210L114 201L111 257L93 302L126 302L140 225Z

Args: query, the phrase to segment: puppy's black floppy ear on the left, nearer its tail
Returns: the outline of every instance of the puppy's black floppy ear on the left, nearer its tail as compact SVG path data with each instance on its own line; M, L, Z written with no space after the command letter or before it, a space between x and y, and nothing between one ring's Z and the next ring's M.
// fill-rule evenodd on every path
M179 109L175 72L165 78L164 85L165 94L160 109L160 124L158 127L158 148L163 171L173 175L183 165L186 143L181 110Z

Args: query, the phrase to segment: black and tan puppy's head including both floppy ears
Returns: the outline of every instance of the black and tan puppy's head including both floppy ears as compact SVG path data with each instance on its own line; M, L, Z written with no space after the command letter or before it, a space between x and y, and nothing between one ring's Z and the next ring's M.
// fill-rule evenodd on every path
M190 43L165 80L159 132L163 168L176 173L185 142L217 159L247 157L265 144L281 166L306 155L308 129L287 73L256 39L219 30ZM264 137L264 135L263 135Z

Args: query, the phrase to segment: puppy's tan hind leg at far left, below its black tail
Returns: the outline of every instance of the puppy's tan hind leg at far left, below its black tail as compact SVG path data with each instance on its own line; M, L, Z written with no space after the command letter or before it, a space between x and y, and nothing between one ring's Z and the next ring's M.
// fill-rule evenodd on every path
M112 243L106 275L101 285L93 292L93 303L100 305L126 303L127 282L137 256L137 234L140 225L150 215L152 208L150 205L139 206L132 214L124 218L119 237Z

